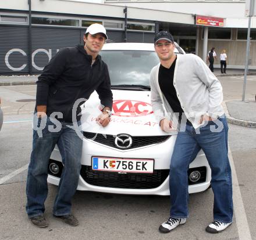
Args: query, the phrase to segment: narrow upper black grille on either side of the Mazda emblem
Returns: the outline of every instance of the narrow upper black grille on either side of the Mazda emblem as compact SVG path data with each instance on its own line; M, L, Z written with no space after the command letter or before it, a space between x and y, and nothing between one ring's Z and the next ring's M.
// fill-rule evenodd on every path
M90 133L90 132L83 132L84 137L86 139L90 139L93 141L96 141L97 143L104 144L109 147L118 148L115 145L115 137L110 134L97 134L97 133ZM105 137L106 136L106 137ZM137 147L144 147L151 144L161 143L162 141L165 141L170 136L131 136L133 139L133 143L129 147L131 148L137 148Z

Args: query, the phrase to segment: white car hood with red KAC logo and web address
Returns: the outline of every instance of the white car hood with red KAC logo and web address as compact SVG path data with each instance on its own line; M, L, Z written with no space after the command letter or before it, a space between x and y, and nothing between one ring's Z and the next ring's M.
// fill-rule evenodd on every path
M94 92L82 108L82 130L102 134L126 133L131 136L161 136L176 133L165 133L159 127L150 102L150 91L112 90L113 107L111 122L103 128L98 125L97 117L100 101Z

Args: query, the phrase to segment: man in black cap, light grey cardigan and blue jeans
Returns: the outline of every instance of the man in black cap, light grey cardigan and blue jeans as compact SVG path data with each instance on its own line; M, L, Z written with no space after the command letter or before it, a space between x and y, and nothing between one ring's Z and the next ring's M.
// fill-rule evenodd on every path
M214 192L214 221L205 230L221 232L232 224L233 218L228 127L221 106L221 83L200 57L175 55L169 32L159 32L154 43L160 63L150 74L152 108L163 131L178 131L170 160L170 217L159 226L159 231L170 232L186 223L189 217L187 170L202 149L211 167Z

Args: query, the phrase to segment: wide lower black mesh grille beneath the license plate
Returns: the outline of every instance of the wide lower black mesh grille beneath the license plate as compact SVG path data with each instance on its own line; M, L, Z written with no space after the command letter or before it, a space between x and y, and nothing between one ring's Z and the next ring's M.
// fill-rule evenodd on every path
M127 173L92 171L91 166L81 166L81 177L93 186L130 189L159 187L169 175L169 169L154 170L153 173Z

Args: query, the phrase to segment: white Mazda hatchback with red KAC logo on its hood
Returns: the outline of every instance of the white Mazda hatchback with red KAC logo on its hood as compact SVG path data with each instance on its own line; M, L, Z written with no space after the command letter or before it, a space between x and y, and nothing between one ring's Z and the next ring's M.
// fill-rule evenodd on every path
M176 45L176 54L184 50ZM82 107L83 154L77 190L116 194L169 195L169 166L176 135L159 128L150 101L149 77L158 64L151 43L106 43L113 115L105 128L97 124L99 99L94 92ZM58 185L63 165L58 148L48 165L48 182ZM211 169L204 152L190 164L189 192L207 190Z

